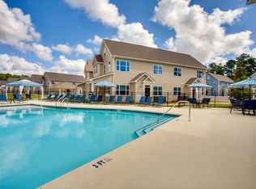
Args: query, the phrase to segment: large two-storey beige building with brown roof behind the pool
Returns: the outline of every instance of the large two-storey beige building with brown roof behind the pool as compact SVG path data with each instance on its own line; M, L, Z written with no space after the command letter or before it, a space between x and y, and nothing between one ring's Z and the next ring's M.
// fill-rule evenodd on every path
M104 79L117 87L119 95L192 94L193 82L204 82L207 67L188 54L170 52L114 40L103 40L100 53L87 61L84 91L96 91L94 84ZM199 79L197 79L199 78ZM192 82L191 82L192 81Z

